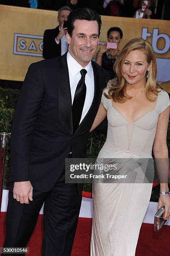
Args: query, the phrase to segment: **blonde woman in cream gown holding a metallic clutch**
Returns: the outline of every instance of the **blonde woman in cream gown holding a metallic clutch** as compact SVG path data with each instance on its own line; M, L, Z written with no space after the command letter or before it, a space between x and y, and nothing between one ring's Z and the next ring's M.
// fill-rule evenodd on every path
M168 159L170 100L156 83L152 46L142 38L129 41L114 64L117 78L102 95L91 131L107 116L107 139L99 159ZM126 165L123 166L126 169ZM168 165L164 166L168 172ZM121 170L120 170L121 172ZM119 170L118 170L119 173ZM138 172L139 177L142 171ZM158 208L170 215L167 183L160 184ZM152 191L152 182L94 183L91 256L134 256ZM167 192L168 194L168 192Z

